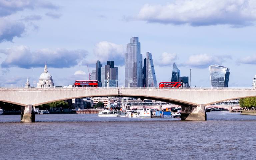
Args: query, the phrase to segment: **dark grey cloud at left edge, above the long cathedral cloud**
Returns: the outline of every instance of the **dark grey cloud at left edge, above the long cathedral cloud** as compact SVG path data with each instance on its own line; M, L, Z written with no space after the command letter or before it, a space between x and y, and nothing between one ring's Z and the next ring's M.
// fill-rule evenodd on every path
M25 25L23 23L0 18L0 42L12 41L14 37L22 37L24 32Z

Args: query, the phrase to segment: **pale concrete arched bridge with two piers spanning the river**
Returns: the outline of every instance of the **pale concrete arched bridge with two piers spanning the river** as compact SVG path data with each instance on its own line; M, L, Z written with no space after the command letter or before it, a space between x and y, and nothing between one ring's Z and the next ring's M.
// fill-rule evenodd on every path
M255 97L253 88L0 88L0 101L22 106L21 121L35 121L33 107L72 98L135 97L181 106L182 120L206 120L205 106L238 98Z

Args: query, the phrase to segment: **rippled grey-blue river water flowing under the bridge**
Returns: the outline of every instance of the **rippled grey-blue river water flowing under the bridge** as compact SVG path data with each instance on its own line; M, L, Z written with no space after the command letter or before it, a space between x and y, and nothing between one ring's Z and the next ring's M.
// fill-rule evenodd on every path
M0 159L256 159L256 116L207 113L207 121L0 116Z

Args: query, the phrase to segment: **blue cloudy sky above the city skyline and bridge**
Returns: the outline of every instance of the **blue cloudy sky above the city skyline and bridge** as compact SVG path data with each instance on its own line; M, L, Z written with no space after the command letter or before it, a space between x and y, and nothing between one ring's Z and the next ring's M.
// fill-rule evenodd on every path
M87 80L114 61L124 85L124 55L139 37L152 53L157 82L173 62L192 86L210 87L209 65L230 68L229 87L251 87L256 74L255 0L0 0L0 86L35 86L47 62L55 86Z

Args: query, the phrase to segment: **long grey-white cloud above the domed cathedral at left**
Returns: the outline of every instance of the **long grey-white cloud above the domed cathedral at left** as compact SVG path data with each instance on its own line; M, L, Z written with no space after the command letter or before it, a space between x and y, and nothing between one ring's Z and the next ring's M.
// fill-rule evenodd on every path
M2 62L3 68L20 67L42 67L45 62L53 68L69 68L77 65L88 54L86 50L67 50L57 48L55 50L43 48L30 51L27 46L16 46L0 50L0 53L7 55Z

